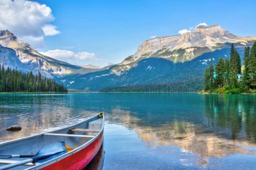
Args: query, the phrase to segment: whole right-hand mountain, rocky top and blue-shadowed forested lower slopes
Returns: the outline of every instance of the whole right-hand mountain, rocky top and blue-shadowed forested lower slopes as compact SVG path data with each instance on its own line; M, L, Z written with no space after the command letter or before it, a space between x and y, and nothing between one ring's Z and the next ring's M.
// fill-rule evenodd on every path
M196 91L203 87L204 71L211 58L228 57L231 43L243 56L245 46L251 46L254 40L256 37L235 36L220 26L199 26L185 34L146 40L135 54L109 69L59 81L70 89L88 91L152 84L190 84L195 88L189 91Z

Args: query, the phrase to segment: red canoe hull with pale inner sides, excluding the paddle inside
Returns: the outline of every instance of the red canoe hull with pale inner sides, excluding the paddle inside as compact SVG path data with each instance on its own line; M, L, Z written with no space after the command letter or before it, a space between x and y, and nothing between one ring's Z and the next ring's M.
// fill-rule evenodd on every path
M81 130L86 130L86 132L81 132ZM36 163L32 167L20 165L14 167L13 170L82 170L92 161L98 153L100 146L102 146L103 133L104 114L97 114L73 126L0 143L0 155L28 155L28 153L34 155L46 144L65 142L67 146L71 147L71 149L73 148L71 151L51 160ZM13 159L11 161L18 162L19 159ZM2 161L0 167L3 164L9 163Z

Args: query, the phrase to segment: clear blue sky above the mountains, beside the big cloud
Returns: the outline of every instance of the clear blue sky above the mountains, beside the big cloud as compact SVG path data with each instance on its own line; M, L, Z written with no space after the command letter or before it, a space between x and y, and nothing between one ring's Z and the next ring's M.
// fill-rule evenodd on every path
M8 1L8 0L4 0ZM22 0L24 1L24 0ZM151 36L170 36L199 23L221 25L233 34L256 36L256 1L38 0L51 8L59 34L44 36L41 52L73 52L77 65L107 65L134 54ZM56 52L56 51L55 51ZM88 58L80 58L87 52ZM48 53L47 53L48 54ZM50 53L51 54L51 53ZM72 55L62 58L72 62Z

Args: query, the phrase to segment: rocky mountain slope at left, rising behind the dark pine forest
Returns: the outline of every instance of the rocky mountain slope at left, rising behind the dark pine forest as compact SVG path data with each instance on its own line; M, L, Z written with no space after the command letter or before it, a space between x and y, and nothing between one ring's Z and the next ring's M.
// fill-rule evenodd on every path
M23 71L32 71L33 73L42 73L45 77L54 77L55 75L69 75L69 74L84 74L94 69L79 67L71 65L67 62L56 60L49 56L40 54L37 50L32 48L30 44L18 40L18 38L8 30L0 31L1 49L11 48L15 52L8 53L9 57L1 58L1 64L6 67L21 69ZM7 51L7 49L5 49ZM9 50L10 51L10 50ZM1 54L3 56L4 54ZM11 58L17 58L22 63L11 62ZM9 58L9 59L8 59ZM8 65L6 65L8 63Z

